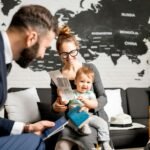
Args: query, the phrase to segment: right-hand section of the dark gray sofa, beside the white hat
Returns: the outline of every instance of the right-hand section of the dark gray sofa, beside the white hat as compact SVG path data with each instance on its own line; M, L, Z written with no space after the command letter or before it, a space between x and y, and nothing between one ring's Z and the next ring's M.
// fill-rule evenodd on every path
M144 147L146 145L148 141L149 92L149 88L121 90L124 112L132 116L133 122L141 123L146 128L110 131L115 148Z

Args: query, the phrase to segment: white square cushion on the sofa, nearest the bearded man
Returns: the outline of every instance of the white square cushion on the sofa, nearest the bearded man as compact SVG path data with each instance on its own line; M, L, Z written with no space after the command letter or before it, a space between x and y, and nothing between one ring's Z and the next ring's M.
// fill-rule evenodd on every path
M8 93L5 103L8 119L25 123L39 121L37 101L40 99L35 88Z

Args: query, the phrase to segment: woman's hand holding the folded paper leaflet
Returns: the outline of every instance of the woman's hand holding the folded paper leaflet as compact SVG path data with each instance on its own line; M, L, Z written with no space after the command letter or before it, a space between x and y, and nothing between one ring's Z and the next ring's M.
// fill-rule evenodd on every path
M58 97L57 100L53 104L53 109L56 112L65 112L67 108L68 107L65 105L65 101L62 101L61 97Z

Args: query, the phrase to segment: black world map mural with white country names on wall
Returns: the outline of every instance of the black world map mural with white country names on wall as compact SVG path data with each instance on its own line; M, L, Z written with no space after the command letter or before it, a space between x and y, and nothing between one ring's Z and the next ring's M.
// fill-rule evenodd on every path
M23 0L1 0L3 15L21 5ZM121 57L140 65L140 56L149 55L150 1L148 0L80 0L78 10L60 8L54 15L60 24L68 24L80 42L80 55L92 62L101 54L110 57L114 66ZM1 24L5 26L5 22ZM149 58L149 57L148 57ZM149 65L149 60L146 60ZM54 70L61 66L56 49L48 49L44 60L35 60L33 71ZM144 77L145 68L137 72Z

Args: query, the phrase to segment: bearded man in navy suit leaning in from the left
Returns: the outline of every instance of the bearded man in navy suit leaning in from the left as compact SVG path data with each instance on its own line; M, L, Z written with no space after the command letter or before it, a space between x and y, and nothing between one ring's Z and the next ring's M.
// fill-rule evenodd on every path
M13 16L6 31L0 32L0 107L7 98L7 65L13 60L27 67L35 58L43 58L57 34L57 22L52 14L39 5L21 7ZM43 150L40 134L51 121L33 124L0 118L1 150Z

